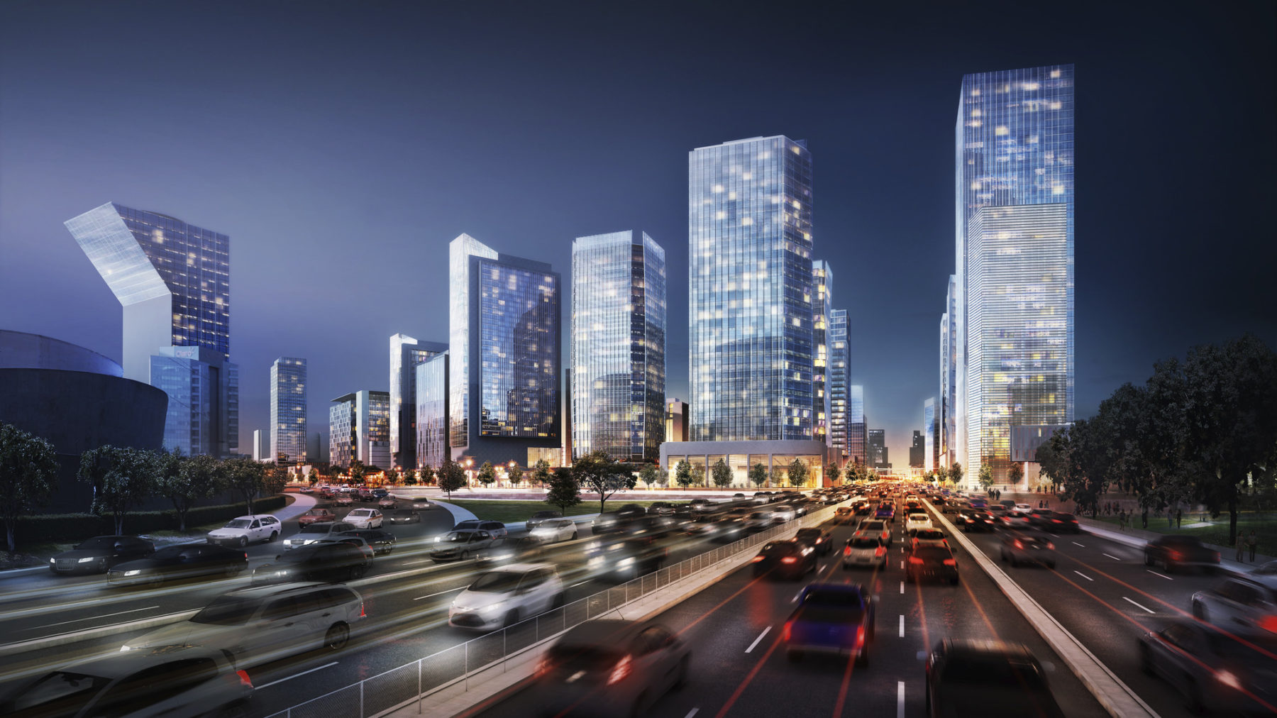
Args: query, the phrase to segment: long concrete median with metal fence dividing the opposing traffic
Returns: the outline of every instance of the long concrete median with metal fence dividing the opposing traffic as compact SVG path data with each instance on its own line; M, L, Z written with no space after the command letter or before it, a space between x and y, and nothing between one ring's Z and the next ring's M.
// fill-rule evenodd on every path
M484 634L398 668L391 668L358 684L272 713L267 718L331 718L332 715L377 718L411 705L414 701L418 704L418 713L420 713L421 701L433 692L455 686L476 673L489 671L573 626L617 611L710 569L725 558L738 556L760 543L803 526L821 524L833 515L833 506L826 506L802 519L711 548L673 566L573 600L562 608L553 608L507 629Z

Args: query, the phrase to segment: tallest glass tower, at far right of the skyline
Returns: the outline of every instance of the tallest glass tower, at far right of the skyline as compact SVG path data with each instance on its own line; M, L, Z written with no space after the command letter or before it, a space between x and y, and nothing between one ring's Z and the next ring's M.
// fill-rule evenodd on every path
M963 78L950 323L968 477L1005 482L1018 437L1073 420L1073 65Z

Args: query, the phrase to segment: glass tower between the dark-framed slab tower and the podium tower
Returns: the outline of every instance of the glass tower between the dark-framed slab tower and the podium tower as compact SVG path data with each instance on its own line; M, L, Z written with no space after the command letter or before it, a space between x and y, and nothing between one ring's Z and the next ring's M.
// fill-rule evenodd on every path
M572 241L572 450L656 461L665 413L665 250L646 233Z

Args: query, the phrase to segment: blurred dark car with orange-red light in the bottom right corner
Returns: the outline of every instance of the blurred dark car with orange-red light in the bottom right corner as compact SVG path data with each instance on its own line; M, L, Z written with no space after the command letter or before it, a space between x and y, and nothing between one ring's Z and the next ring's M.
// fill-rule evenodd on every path
M1140 668L1171 684L1190 713L1272 715L1277 636L1239 639L1228 629L1176 621L1139 639Z

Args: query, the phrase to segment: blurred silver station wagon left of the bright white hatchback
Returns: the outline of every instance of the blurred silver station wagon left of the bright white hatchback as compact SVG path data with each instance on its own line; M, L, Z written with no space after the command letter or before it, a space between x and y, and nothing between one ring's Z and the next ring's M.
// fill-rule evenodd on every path
M317 648L340 650L364 620L354 589L301 583L238 589L185 621L129 639L121 652L200 645L229 652L236 667L258 666Z

